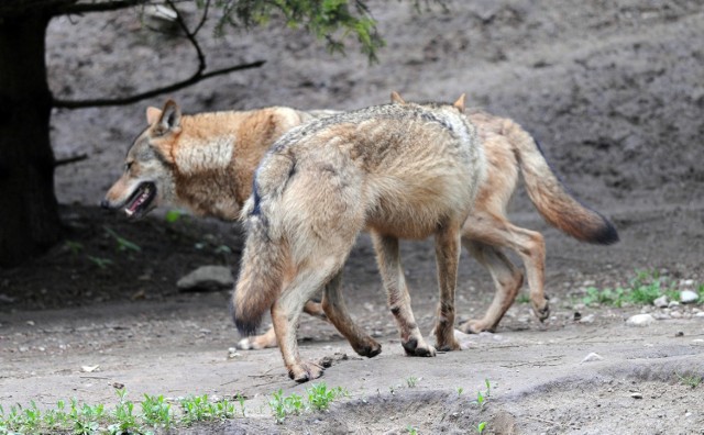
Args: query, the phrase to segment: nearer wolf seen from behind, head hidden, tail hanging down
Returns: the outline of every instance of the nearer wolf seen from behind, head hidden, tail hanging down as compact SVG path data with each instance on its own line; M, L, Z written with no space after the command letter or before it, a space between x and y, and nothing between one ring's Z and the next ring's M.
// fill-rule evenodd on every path
M437 347L460 348L453 334L460 231L485 176L483 149L463 112L464 96L452 105L386 104L326 116L285 134L260 164L242 209L246 242L232 313L248 334L271 310L292 379L322 375L298 355L300 313L322 286L339 279L365 228L402 345L416 356L433 356L435 348L415 321L398 239L435 236ZM326 287L326 315L359 354L378 354L380 344L346 313L339 287Z

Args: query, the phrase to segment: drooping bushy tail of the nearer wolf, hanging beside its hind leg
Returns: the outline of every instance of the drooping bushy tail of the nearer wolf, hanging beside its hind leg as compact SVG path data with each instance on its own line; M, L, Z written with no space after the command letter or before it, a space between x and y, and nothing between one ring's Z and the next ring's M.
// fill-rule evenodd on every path
M288 249L285 244L270 239L263 216L250 215L246 226L246 245L231 309L240 333L251 335L282 291Z

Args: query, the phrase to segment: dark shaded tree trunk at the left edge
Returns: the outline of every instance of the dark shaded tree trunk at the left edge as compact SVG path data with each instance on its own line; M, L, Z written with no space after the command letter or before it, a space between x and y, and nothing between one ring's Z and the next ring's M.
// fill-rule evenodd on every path
M0 18L0 267L61 238L41 11Z

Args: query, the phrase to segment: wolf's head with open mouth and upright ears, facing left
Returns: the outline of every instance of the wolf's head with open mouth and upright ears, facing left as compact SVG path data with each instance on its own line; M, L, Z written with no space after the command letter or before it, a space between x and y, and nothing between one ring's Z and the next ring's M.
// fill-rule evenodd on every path
M123 209L130 219L139 219L158 205L173 203L173 144L180 134L180 109L168 100L163 109L148 108L148 127L128 150L122 176L108 190L101 207Z

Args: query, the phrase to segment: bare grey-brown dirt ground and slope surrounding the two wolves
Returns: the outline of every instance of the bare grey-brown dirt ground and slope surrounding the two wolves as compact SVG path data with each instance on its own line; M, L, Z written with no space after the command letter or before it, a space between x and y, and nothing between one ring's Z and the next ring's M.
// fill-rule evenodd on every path
M186 112L282 104L352 109L387 101L453 100L516 119L539 138L575 196L616 224L622 242L580 244L542 222L522 188L512 220L547 243L552 313L540 323L516 303L495 334L463 336L462 352L404 356L366 235L345 267L353 316L383 345L358 357L336 331L306 317L301 354L334 359L321 380L350 398L329 412L276 425L266 405L278 390L302 393L277 349L229 348L239 341L229 291L184 293L176 281L220 264L237 274L240 230L164 211L138 223L95 205L121 170L146 105L56 111L56 192L67 243L22 267L0 270L0 404L53 406L76 397L114 402L113 383L133 400L209 393L246 395L246 419L193 433L704 433L704 311L583 306L585 288L626 285L657 270L688 287L704 282L704 7L700 1L454 1L449 12L413 2L372 1L387 46L381 62L348 49L330 56L300 32L268 29L209 41L210 64L265 59L263 68L221 77L172 97ZM62 98L120 94L187 74L186 42L140 29L130 13L55 20L48 34L52 88ZM114 235L139 250L120 249ZM438 300L430 242L403 244L414 311L429 334ZM516 259L515 257L512 257ZM493 297L488 275L463 253L461 319ZM627 326L641 310L656 323ZM575 312L583 320L576 322ZM267 326L266 324L264 326ZM603 359L583 361L591 353ZM84 372L82 366L99 366ZM417 378L416 387L408 386ZM472 401L488 379L483 410ZM463 394L458 393L462 389Z

